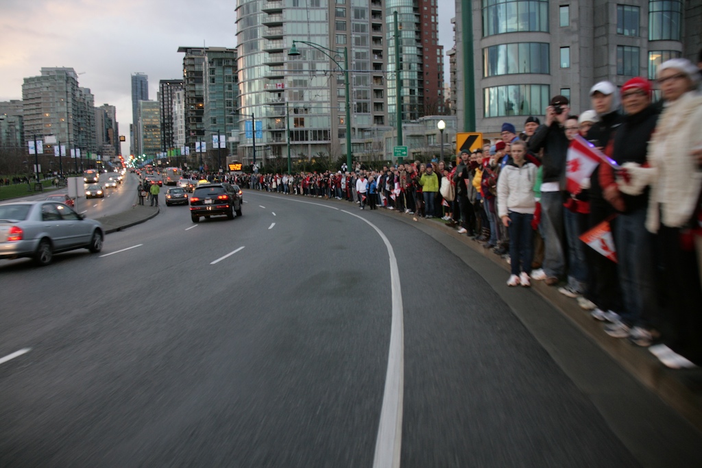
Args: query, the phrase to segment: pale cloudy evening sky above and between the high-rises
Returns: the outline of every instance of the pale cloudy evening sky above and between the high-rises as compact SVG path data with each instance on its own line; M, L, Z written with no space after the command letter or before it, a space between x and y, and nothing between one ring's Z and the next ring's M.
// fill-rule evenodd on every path
M437 3L445 53L455 5ZM236 46L235 7L235 0L0 0L0 101L21 100L23 79L41 67L73 68L95 106L117 107L119 134L129 140L131 74L149 76L155 100L159 80L183 78L178 47ZM445 55L444 62L448 81Z

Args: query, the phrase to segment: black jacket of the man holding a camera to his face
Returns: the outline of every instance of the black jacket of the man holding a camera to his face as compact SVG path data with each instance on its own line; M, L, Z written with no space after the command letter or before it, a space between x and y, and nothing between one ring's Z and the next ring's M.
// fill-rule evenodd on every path
M566 156L570 142L564 126L553 121L550 126L540 125L529 140L529 151L537 154L543 148L543 182L566 182Z

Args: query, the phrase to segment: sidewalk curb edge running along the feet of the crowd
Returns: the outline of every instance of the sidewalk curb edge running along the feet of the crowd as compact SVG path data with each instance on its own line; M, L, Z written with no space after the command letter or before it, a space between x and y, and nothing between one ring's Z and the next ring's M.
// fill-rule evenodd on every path
M420 222L434 229L439 229L453 238L460 240L476 253L489 258L505 270L505 281L510 274L510 265L491 249L482 248L482 244L470 239L465 234L458 234L457 229L449 227L438 220L430 220L416 215L397 213L394 210L378 210L388 216ZM578 307L576 301L558 292L557 288L546 286L543 281L532 281L531 289L543 299L550 302L559 312L578 327L585 336L607 352L614 361L645 387L658 395L665 403L682 415L697 429L702 431L702 368L694 370L673 370L666 368L647 348L631 345L627 340L612 338L602 330L602 322L592 319L589 311ZM702 306L701 306L702 307ZM702 340L702 337L700 337Z

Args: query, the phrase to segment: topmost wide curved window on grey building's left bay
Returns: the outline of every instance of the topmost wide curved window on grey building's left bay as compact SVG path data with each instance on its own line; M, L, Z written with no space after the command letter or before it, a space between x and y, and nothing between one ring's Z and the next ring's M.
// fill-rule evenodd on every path
M482 0L483 36L548 32L548 0Z

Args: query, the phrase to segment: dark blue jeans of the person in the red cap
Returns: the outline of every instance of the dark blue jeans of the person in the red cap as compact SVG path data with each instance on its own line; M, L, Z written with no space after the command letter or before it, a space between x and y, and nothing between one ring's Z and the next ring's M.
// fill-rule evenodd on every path
M656 314L654 236L646 230L646 210L619 215L614 225L619 283L623 298L622 321L637 325Z

